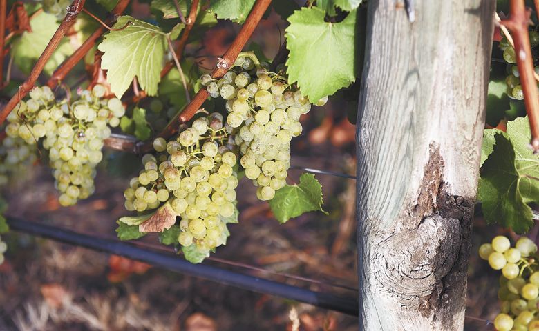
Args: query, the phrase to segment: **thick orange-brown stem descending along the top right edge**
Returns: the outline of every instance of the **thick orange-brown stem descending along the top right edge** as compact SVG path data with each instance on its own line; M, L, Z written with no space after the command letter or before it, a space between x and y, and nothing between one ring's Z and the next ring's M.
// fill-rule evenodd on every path
M520 84L524 92L524 105L526 106L531 129L530 143L533 152L537 153L539 152L539 95L536 80L533 77L535 70L533 68L528 34L531 10L526 8L524 0L511 0L509 8L509 19L501 23L513 32Z

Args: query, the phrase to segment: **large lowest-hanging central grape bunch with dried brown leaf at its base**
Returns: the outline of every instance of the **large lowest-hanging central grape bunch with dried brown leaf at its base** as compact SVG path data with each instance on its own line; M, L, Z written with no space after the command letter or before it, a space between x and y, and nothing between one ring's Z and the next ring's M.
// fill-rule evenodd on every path
M157 138L157 154L142 157L144 170L124 191L127 210L155 210L167 201L180 215L178 242L209 251L227 237L225 219L236 210L236 154L227 146L223 116L193 121L176 139ZM178 225L174 225L178 226Z

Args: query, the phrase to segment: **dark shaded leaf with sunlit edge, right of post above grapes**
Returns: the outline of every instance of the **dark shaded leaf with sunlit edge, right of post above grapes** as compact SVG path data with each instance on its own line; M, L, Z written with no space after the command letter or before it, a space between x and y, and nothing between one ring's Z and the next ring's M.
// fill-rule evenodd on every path
M539 155L528 147L530 137L527 118L507 123L507 134L495 133L477 190L486 221L518 233L533 225L528 203L539 203Z

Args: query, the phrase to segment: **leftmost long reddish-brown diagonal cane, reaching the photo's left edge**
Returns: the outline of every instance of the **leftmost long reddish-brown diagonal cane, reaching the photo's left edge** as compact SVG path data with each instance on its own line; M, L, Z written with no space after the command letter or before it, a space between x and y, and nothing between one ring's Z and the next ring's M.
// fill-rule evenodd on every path
M53 55L53 52L58 47L60 41L62 41L62 38L66 32L68 32L71 26L73 26L73 23L75 23L75 19L77 19L77 16L81 12L85 1L86 0L75 0L71 6L68 7L66 17L64 17L55 34L53 34L53 37L48 42L47 47L41 53L39 59L37 59L37 62L35 63L34 68L32 68L30 75L26 81L19 86L19 90L13 95L10 101L8 101L8 104L6 104L6 106L1 110L0 125L6 120L6 117L8 117L13 108L17 106L19 101L21 101L23 97L26 97L26 94L28 94L30 89L34 87L34 83L37 81L39 74L41 74L43 71L43 68L45 68L45 64L47 63L48 59L50 59L50 57Z

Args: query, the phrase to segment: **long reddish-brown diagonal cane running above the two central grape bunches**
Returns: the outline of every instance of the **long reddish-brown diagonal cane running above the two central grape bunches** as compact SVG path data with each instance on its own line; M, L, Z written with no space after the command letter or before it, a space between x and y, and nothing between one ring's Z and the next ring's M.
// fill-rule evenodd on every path
M256 0L256 3L254 4L251 12L249 13L249 16L245 20L245 23L241 27L240 32L236 36L236 39L234 39L223 57L218 59L217 68L215 68L214 71L211 72L212 78L223 77L223 74L225 74L231 68L231 66L234 64L234 61L236 61L238 54L240 54L241 50L245 46L245 43L247 43L247 40L249 40L249 38L251 37L251 34L254 32L254 29L256 28L256 26L258 26L258 22L262 19L264 12L267 10L267 7L271 2L272 0ZM196 112L200 109L200 106L202 106L202 103L204 103L204 101L207 99L208 95L208 91L205 88L198 90L193 100L191 100L191 102L187 104L184 110L180 112L180 115L178 117L172 119L172 121L167 125L167 127L164 128L164 130L160 134L158 134L158 137L167 139L176 132L178 132L178 127L180 126L180 123L185 123L192 119ZM142 144L142 146L140 146L140 148L138 148L136 152L146 153L151 151L152 149L153 143L151 141L146 141L146 143Z

